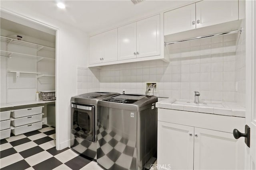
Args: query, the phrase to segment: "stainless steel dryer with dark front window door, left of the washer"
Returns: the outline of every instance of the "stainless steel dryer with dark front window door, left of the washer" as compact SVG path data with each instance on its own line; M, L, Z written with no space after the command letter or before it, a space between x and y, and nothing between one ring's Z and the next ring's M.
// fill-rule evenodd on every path
M97 104L98 100L118 95L112 92L92 92L71 98L70 147L80 154L97 159Z

